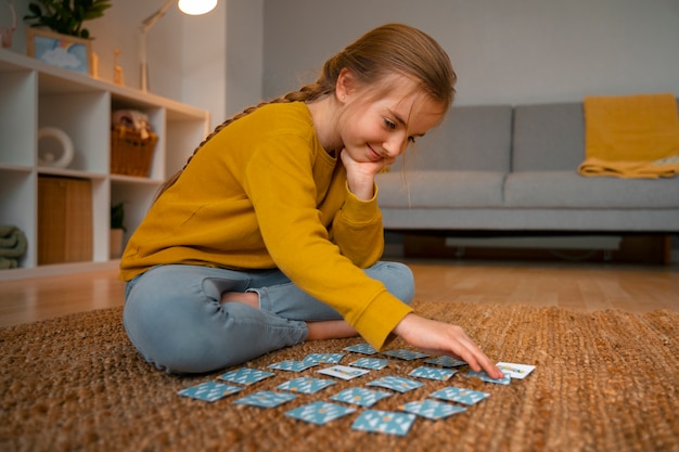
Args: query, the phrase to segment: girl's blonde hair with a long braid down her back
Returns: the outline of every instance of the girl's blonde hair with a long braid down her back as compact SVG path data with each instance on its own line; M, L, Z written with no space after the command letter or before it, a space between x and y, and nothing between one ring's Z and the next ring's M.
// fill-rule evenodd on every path
M343 68L349 69L366 87L377 87L380 81L394 74L409 77L415 82L417 89L439 104L444 112L448 111L454 96L453 87L457 76L448 54L438 42L414 27L387 24L368 31L328 60L315 82L280 98L247 107L217 126L196 147L193 155L225 127L260 106L274 103L311 102L333 93ZM383 86L383 89L387 90L388 86ZM181 170L163 184L158 196L179 179L193 155L189 157Z

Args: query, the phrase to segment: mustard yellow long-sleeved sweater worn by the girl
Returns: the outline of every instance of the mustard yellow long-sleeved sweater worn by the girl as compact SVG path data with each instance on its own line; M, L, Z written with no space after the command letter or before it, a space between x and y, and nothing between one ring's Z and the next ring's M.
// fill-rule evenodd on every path
M279 268L380 349L411 312L361 270L383 248L376 195L363 202L348 191L305 104L271 104L194 155L131 236L120 277L170 263Z

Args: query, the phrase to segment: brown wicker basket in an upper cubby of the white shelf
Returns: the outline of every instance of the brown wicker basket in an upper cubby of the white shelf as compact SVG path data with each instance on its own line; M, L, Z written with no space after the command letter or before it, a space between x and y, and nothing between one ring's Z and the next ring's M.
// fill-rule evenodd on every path
M141 132L125 126L111 127L111 172L114 175L148 177L153 160L153 151L158 135Z

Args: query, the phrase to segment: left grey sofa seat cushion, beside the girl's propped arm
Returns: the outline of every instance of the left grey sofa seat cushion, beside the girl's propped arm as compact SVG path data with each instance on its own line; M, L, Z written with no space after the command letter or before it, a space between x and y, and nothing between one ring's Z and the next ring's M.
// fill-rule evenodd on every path
M381 207L500 207L504 172L392 171L377 175Z

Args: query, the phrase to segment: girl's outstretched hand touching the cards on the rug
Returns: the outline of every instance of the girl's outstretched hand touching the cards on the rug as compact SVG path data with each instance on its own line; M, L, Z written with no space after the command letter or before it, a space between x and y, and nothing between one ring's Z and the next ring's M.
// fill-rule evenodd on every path
M408 314L396 325L394 333L408 344L433 354L447 354L465 361L474 371L482 369L492 378L501 378L502 372L457 325L450 325L420 315Z

